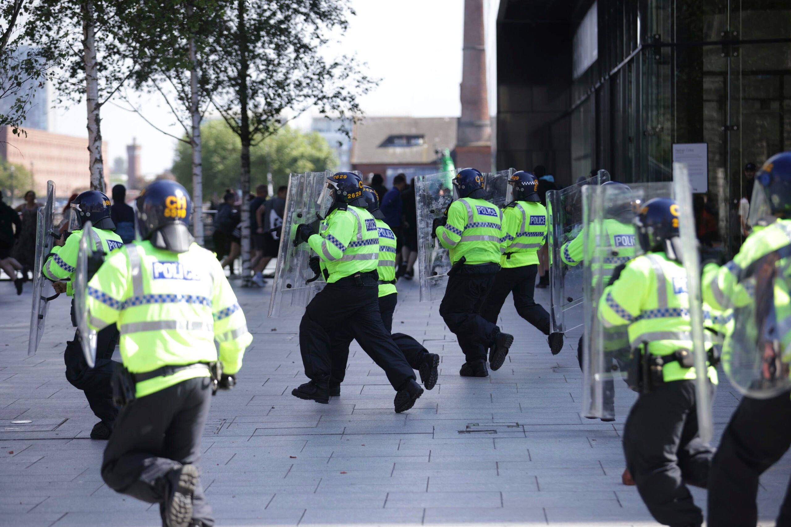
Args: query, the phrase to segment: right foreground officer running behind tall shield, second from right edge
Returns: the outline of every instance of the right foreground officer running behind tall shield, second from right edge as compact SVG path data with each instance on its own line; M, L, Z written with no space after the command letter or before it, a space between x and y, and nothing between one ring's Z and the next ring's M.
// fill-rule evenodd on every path
M639 386L640 396L623 432L626 468L653 518L699 527L702 512L687 484L706 487L714 449L698 435L687 273L672 241L678 212L669 198L645 203L635 224L646 254L613 275L599 317L605 327L628 325L634 354L630 385ZM651 373L638 381L645 371ZM714 368L707 373L716 384Z

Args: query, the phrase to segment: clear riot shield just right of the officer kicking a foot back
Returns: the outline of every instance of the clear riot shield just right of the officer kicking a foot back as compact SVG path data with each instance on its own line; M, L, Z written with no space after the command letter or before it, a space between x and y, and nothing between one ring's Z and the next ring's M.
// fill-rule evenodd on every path
M566 333L583 323L583 265L577 256L582 248L582 188L609 180L610 174L600 170L594 177L576 185L547 191L551 333Z

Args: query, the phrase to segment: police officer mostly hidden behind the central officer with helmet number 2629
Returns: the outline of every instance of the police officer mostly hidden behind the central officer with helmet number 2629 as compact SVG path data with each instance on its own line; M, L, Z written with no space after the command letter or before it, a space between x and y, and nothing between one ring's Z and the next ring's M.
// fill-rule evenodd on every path
M379 232L379 311L382 324L388 333L392 333L393 311L398 303L398 291L395 289L395 233L384 222L384 213L379 209L379 198L370 186L362 187L365 198L365 209L377 220ZM318 257L314 260L319 265ZM313 258L311 258L313 260ZM314 269L315 270L315 269ZM341 383L346 376L346 363L349 360L349 344L354 336L347 331L337 331L332 336L332 375L330 378L330 395L341 394ZM430 353L413 337L405 333L392 333L395 345L399 347L409 365L420 372L420 381L426 390L437 384L440 356Z

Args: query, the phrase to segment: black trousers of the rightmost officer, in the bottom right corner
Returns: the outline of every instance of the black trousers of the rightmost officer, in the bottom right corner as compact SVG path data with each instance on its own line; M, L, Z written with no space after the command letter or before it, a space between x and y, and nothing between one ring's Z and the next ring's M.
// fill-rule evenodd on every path
M758 478L791 445L789 397L788 391L771 399L744 397L736 408L709 472L710 527L758 522ZM780 507L778 527L791 525L789 491Z

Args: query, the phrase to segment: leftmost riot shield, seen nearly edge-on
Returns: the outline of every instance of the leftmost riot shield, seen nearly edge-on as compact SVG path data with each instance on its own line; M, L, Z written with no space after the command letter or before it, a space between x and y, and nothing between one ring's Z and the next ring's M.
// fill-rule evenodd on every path
M44 335L44 323L47 321L49 302L57 298L58 293L52 288L52 282L44 277L44 261L52 252L55 244L55 233L52 226L52 207L55 201L55 183L47 181L47 201L38 210L36 217L36 257L33 272L33 305L30 312L30 333L28 337L28 356L35 355L41 337Z

